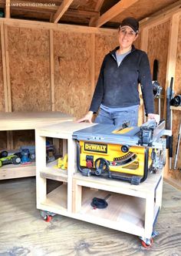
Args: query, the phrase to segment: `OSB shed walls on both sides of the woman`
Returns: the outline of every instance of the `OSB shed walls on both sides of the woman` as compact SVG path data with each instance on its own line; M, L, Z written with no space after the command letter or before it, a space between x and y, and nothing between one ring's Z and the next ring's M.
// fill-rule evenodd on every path
M180 12L180 11L177 11ZM155 19L155 18L154 18ZM159 22L158 22L159 21ZM158 80L163 87L162 116L166 116L166 88L168 86L168 62L172 15L168 19L155 19L146 23L135 42L137 48L146 50L153 72L153 60L159 61ZM97 77L104 56L117 46L117 30L79 27L77 25L52 25L44 22L15 21L1 19L0 45L0 89L2 100L0 111L62 111L79 118L87 113L94 93ZM143 29L148 29L147 40ZM4 31L6 31L4 33ZM50 32L52 31L52 32ZM5 37L2 40L2 37ZM180 89L180 38L176 49L174 91ZM5 49L2 48L5 41ZM4 61L3 61L3 56ZM53 59L53 61L51 61ZM5 70L7 83L2 70ZM9 81L9 83L8 83ZM8 96L5 95L5 90ZM164 111L163 111L164 110ZM156 102L157 111L157 102ZM173 112L173 152L180 122L179 111ZM143 122L143 102L140 106L140 122ZM25 139L22 137L25 135ZM31 134L32 136L32 134ZM14 147L30 143L31 136L21 131L13 132ZM26 139L27 138L27 139ZM4 149L7 139L0 133ZM177 166L180 167L181 158ZM169 170L167 177L181 180L181 173Z

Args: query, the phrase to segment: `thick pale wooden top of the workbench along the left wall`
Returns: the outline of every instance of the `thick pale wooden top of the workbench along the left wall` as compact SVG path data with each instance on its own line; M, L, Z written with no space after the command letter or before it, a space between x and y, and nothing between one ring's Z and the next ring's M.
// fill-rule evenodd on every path
M42 126L74 120L73 116L56 112L0 112L0 130L35 130Z

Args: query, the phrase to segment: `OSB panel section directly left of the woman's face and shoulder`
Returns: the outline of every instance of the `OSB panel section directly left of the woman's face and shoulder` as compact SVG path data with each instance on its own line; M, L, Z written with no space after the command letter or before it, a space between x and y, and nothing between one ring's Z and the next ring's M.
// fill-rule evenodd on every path
M103 62L104 56L110 51L115 49L118 45L118 32L115 35L95 35L95 84L100 73L100 67Z

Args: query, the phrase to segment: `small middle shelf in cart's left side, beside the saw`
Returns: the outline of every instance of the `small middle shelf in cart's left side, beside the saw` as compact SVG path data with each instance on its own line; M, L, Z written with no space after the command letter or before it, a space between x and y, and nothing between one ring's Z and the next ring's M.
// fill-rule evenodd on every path
M67 170L62 170L56 167L57 161L58 160L48 163L47 167L40 171L40 176L50 180L67 182Z

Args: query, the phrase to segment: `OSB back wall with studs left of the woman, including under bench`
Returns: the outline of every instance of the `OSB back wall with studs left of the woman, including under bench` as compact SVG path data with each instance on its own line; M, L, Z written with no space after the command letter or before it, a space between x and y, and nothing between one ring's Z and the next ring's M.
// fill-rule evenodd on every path
M0 25L0 89L5 90L0 111L62 111L83 116L94 92L95 71L117 45L117 32L13 19L1 19ZM96 59L96 44L102 36L104 50ZM0 149L29 145L33 138L33 131L8 132L7 137L1 132Z

